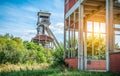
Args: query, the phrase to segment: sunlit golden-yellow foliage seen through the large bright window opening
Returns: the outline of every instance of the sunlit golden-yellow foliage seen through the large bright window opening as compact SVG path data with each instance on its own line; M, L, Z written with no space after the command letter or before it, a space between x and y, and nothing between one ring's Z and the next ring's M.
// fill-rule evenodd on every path
M92 36L89 36L87 38L87 54L88 56L92 55ZM105 54L105 49L106 49L106 45L105 45L105 39L103 37L99 38L99 37L94 37L94 55L97 55L95 58L98 57L99 53L101 55ZM104 56L101 56L101 58L105 59Z

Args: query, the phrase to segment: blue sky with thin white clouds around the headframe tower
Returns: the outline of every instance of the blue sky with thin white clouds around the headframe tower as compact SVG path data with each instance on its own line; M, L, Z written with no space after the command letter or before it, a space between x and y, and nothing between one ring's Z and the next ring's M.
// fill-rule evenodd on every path
M50 29L63 42L64 0L0 0L0 34L30 41L36 35L39 10L52 13Z

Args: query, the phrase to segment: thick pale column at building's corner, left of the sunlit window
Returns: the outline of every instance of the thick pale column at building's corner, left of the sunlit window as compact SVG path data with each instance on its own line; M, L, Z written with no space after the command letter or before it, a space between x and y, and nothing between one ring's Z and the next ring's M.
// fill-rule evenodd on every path
M78 69L83 70L83 5L79 6L78 19Z

